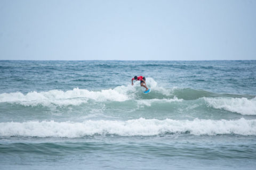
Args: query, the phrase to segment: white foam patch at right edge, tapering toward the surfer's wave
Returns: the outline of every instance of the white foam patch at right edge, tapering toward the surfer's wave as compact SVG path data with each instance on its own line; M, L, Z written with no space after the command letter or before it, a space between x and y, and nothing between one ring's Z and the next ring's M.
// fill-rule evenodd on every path
M239 113L242 115L256 115L256 99L247 98L205 98L206 103L217 109Z

